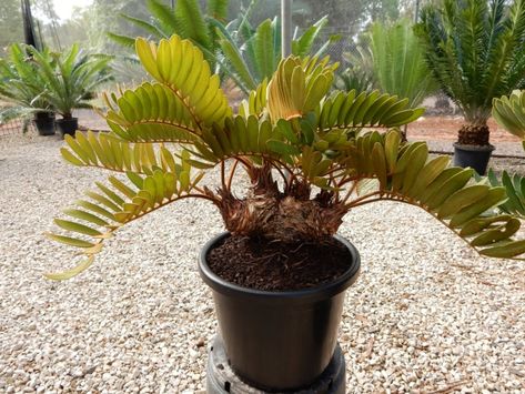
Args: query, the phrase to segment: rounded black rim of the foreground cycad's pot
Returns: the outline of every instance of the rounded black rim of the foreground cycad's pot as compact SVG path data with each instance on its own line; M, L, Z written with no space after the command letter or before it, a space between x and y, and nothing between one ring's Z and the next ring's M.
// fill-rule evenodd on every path
M361 269L361 256L355 246L341 235L333 235L333 238L342 243L352 255L352 263L350 267L335 281L322 284L315 287L303 290L287 290L287 291L265 291L240 286L238 284L228 282L216 275L208 265L208 253L216 246L223 239L230 236L230 232L223 232L213 236L208 241L199 253L199 273L203 281L214 291L224 295L235 295L243 299L258 300L275 300L275 299L294 299L297 303L312 302L331 297L346 290L357 279Z

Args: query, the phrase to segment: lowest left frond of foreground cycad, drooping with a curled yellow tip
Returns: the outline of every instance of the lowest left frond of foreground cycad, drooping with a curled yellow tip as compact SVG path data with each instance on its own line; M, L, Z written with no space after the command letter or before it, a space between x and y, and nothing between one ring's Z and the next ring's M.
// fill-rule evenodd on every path
M103 241L122 225L191 196L203 174L191 176L188 158L185 152L179 163L165 169L157 168L149 175L128 172L127 182L114 176L109 178L109 184L97 182L97 190L85 192L84 199L63 211L63 219L54 220L61 232L47 234L54 241L78 249L85 260L72 270L46 276L64 280L79 274L91 265L94 255L102 250ZM206 198L199 192L192 196Z

